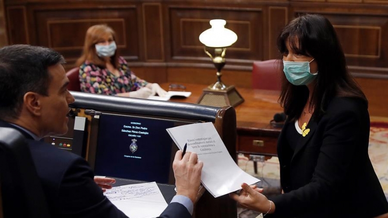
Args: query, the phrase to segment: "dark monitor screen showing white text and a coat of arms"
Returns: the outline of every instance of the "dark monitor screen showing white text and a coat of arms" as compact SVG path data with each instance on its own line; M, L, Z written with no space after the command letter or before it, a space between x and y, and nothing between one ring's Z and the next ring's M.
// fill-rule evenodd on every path
M181 122L126 115L98 120L96 175L171 184L178 148L165 129Z

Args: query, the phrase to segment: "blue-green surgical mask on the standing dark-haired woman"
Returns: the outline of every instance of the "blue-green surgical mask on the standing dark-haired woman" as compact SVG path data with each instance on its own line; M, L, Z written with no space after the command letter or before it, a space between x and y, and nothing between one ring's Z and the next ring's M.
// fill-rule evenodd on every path
M312 61L314 59L310 62ZM283 60L283 71L287 80L296 86L307 85L314 80L318 71L315 74L310 73L310 62L288 62Z

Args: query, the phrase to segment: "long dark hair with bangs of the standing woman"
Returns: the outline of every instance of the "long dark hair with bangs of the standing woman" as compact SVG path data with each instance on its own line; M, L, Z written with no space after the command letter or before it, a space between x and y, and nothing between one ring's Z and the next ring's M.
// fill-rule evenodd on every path
M368 104L365 94L347 70L345 55L328 19L308 14L295 18L277 38L277 47L282 54L287 52L288 40L294 52L313 57L318 65L309 105L310 109L314 108L313 118L321 117L336 96L358 97ZM292 85L282 74L279 99L290 120L300 117L308 96L307 86Z

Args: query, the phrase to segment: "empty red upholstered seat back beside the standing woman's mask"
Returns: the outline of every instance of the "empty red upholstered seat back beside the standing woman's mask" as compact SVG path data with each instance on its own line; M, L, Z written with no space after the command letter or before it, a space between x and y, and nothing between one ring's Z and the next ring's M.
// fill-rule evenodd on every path
M280 61L276 59L253 62L252 88L280 90L281 73Z

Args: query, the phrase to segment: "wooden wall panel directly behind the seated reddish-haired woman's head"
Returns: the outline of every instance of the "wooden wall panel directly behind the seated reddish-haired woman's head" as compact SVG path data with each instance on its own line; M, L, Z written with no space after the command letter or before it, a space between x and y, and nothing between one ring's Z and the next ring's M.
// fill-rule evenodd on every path
M120 55L128 60L139 60L139 37L135 7L83 10L34 11L37 45L52 47L61 52L68 62L81 55L87 29L96 24L107 24L116 33Z

